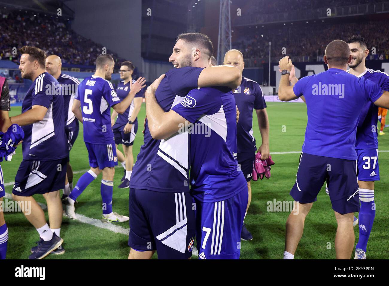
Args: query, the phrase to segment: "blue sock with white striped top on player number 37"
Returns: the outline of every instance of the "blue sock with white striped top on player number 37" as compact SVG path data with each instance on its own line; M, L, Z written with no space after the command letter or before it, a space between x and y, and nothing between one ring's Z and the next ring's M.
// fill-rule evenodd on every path
M355 248L362 249L366 252L367 242L375 218L374 190L359 189L359 200L361 201L358 216L359 240Z

